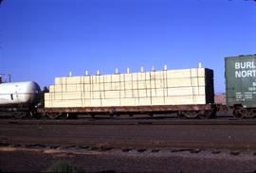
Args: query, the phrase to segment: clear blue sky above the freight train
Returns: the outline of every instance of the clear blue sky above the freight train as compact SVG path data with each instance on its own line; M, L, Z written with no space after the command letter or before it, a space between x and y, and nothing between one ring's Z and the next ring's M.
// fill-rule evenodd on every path
M224 57L256 53L256 2L4 0L0 46L0 73L42 88L69 71L113 74L202 62L222 93Z

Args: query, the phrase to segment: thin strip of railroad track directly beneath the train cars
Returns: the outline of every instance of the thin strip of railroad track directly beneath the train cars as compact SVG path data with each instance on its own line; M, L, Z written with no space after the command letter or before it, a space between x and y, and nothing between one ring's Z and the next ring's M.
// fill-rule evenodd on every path
M256 119L76 119L76 120L10 120L1 119L0 125L244 125L256 126Z

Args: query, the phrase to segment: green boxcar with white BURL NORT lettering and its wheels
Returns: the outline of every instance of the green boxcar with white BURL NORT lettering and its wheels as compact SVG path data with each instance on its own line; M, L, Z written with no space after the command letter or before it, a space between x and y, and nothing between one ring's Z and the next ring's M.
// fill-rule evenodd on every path
M226 95L234 115L256 116L256 54L225 59Z

